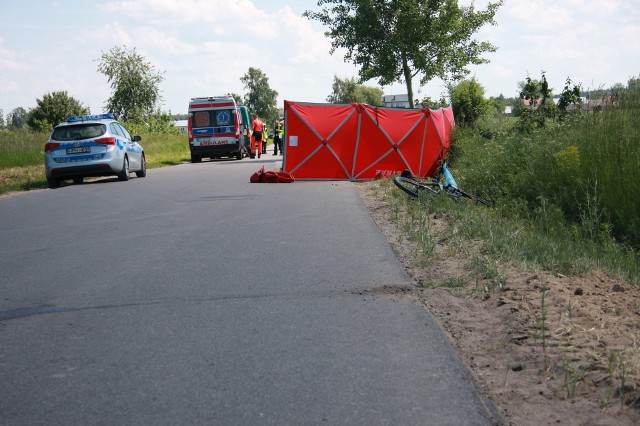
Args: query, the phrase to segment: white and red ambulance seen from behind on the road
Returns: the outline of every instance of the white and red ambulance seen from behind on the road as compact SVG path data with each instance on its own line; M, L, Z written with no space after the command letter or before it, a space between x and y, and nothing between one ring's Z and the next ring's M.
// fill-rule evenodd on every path
M232 96L191 98L189 101L188 135L191 162L203 158L235 158L245 156L246 128L240 107Z

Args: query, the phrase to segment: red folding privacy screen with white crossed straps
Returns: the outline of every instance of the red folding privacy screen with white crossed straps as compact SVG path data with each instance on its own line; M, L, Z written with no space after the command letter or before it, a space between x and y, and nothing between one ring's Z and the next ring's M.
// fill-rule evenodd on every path
M283 170L296 179L432 176L449 148L451 107L401 109L285 101Z

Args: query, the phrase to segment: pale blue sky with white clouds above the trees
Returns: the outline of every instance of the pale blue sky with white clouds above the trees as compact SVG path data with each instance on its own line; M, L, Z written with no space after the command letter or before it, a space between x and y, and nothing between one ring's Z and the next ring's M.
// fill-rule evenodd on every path
M172 114L186 113L192 97L244 95L250 67L268 77L279 108L324 103L334 76L357 77L358 68L344 51L330 54L327 28L305 10L319 10L317 0L0 0L0 109L6 117L67 91L92 113L106 112L112 89L98 60L115 46L135 48L162 73L160 108ZM475 38L498 50L468 76L486 97L515 97L519 82L543 71L554 93L567 78L602 89L640 76L640 0L504 0L495 21ZM364 84L407 93L404 83ZM437 79L416 79L413 90L420 99L446 95Z

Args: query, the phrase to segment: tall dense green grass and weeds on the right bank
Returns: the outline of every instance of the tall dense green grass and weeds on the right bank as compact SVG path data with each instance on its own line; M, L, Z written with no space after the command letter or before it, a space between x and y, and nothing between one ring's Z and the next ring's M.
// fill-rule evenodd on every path
M523 216L559 209L582 236L638 248L639 130L638 110L625 105L526 135L458 129L452 167L464 188L498 204L523 203Z

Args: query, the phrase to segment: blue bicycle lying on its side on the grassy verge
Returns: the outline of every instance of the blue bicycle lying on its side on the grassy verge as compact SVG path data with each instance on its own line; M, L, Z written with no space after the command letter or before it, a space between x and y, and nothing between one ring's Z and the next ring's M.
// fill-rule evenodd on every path
M442 182L442 175L444 175L444 183ZM466 198L476 204L484 206L490 205L487 200L458 188L456 180L447 168L446 160L442 162L442 166L440 167L440 172L437 177L430 181L417 179L413 177L408 170L402 172L400 176L394 176L392 180L398 188L414 198L418 198L421 193L438 195L441 192L444 192L456 202L460 201L461 198Z

